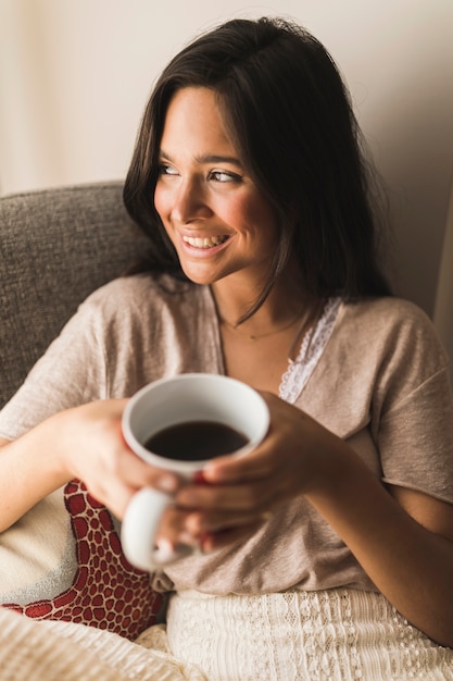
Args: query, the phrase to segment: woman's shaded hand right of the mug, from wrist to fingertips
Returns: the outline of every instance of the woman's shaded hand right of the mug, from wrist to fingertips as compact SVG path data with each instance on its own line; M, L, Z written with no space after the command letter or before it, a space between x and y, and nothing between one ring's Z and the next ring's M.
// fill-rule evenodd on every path
M262 393L270 411L266 438L244 457L213 459L176 503L184 532L203 550L246 538L281 505L325 476L327 459L347 445L306 413ZM186 534L186 540L187 540Z

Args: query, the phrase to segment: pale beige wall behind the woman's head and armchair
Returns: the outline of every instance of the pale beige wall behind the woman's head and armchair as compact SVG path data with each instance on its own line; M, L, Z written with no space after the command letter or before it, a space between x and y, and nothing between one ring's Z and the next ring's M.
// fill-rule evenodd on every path
M124 176L167 59L262 14L295 17L339 63L389 189L398 292L450 320L453 0L0 0L0 191Z

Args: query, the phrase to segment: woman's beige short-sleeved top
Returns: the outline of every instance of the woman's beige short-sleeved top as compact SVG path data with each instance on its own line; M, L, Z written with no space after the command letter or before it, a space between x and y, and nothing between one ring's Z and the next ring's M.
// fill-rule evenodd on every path
M4 407L0 436L15 438L58 410L129 396L150 381L190 371L224 371L210 289L168 277L159 285L149 275L116 280L88 298ZM413 304L341 304L294 404L347 439L383 482L453 503L448 360ZM248 542L185 558L156 574L154 585L214 594L375 589L302 496Z

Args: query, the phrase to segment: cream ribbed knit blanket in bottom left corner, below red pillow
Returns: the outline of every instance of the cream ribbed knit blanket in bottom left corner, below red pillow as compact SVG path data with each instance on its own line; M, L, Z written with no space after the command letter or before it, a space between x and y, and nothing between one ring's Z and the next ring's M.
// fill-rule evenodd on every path
M93 627L0 608L1 681L205 681L169 654L162 627L148 632L148 645L153 649Z

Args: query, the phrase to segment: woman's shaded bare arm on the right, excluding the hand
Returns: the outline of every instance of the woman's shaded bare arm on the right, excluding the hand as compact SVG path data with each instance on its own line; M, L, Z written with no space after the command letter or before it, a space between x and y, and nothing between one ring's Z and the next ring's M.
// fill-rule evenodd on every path
M352 450L307 498L397 609L453 647L453 505L389 493Z

